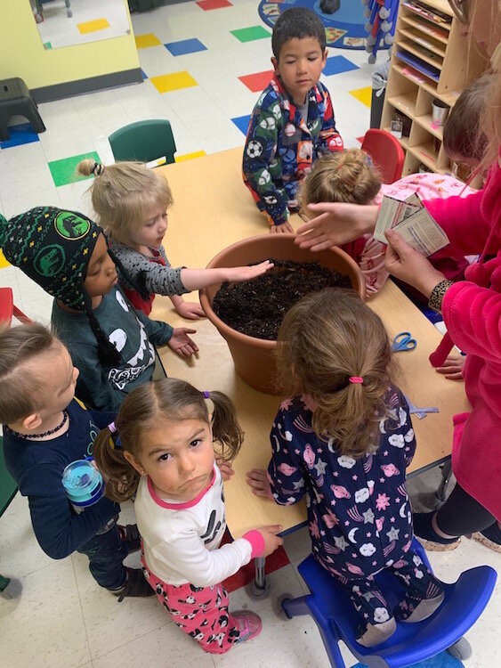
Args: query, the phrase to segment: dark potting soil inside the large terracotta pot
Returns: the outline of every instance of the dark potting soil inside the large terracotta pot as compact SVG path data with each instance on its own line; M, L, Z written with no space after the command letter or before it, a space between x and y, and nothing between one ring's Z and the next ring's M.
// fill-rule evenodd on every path
M241 283L222 283L214 295L214 313L233 330L249 337L274 340L285 314L309 292L351 288L348 276L318 262L273 260L263 276Z

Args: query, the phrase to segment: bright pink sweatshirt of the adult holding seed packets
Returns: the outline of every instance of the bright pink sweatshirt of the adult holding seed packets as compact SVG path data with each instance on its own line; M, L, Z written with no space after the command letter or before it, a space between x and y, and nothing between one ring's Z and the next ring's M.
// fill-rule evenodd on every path
M424 205L450 240L435 257L482 254L445 294L448 334L431 360L439 366L452 342L467 354L472 411L454 416L452 468L465 491L501 520L501 167L491 167L483 191Z

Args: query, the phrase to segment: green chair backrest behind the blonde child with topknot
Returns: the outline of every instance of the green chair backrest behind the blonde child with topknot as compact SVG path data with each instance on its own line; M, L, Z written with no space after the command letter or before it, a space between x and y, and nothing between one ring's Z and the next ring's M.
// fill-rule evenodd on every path
M121 127L108 139L116 160L149 162L165 156L167 164L174 162L174 134L166 118L138 120Z

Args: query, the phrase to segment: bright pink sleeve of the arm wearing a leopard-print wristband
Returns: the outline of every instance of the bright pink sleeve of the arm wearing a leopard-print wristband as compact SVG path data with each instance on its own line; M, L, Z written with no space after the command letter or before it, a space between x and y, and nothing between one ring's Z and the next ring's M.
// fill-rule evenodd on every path
M501 361L501 294L471 281L459 281L444 295L448 333L465 353Z

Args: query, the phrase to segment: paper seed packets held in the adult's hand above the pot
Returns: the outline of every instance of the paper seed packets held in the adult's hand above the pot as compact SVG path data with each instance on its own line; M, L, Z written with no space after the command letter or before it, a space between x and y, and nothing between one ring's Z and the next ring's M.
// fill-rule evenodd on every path
M447 234L435 223L416 193L404 201L384 195L374 238L387 244L384 232L390 228L424 257L448 245Z

